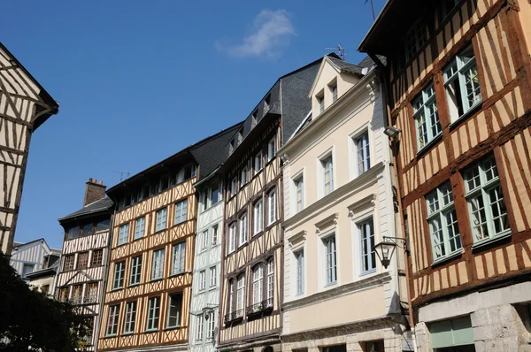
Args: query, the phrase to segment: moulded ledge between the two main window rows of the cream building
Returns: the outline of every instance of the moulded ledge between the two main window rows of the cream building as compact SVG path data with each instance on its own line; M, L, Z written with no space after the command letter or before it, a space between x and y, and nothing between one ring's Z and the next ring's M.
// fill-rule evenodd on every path
M356 179L351 180L346 185L335 189L332 193L322 197L317 202L308 205L306 208L297 212L292 217L285 219L284 224L282 226L284 227L284 229L289 229L290 227L295 226L298 222L302 221L304 218L312 214L314 211L324 208L330 203L336 203L342 200L342 198L345 195L348 195L349 192L353 189L360 187L368 187L369 185L373 184L378 180L378 176L384 170L385 165L382 162L374 165L373 167L371 167L371 169L369 169L369 171L359 175Z

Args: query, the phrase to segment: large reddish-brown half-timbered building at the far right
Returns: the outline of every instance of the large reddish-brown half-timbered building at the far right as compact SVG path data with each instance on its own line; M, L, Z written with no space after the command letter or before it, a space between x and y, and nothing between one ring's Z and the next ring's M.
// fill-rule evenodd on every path
M530 19L526 0L389 0L360 45L388 58L419 351L528 348Z

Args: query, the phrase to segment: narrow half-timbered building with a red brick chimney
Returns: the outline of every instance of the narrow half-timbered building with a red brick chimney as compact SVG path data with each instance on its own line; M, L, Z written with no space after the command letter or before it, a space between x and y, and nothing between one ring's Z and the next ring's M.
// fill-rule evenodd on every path
M89 351L97 346L110 256L113 203L105 197L105 188L102 181L89 179L83 207L58 219L65 229L65 240L55 297L73 304L75 311L92 326L84 346Z

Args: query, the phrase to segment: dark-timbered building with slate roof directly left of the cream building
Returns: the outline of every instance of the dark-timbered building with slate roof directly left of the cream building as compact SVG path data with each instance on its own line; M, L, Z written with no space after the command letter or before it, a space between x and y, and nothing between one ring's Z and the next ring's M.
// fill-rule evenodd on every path
M310 111L320 60L282 76L227 144L219 349L280 350L282 176L276 150Z

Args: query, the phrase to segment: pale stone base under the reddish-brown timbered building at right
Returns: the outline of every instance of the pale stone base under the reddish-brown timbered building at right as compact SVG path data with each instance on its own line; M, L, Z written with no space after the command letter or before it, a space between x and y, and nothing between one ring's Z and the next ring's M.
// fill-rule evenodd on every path
M435 302L419 309L418 351L531 352L530 317L531 282ZM457 324L457 333L443 330L444 326L453 330L456 321L467 325ZM450 336L458 344L451 346ZM448 346L442 346L442 341L448 341Z

